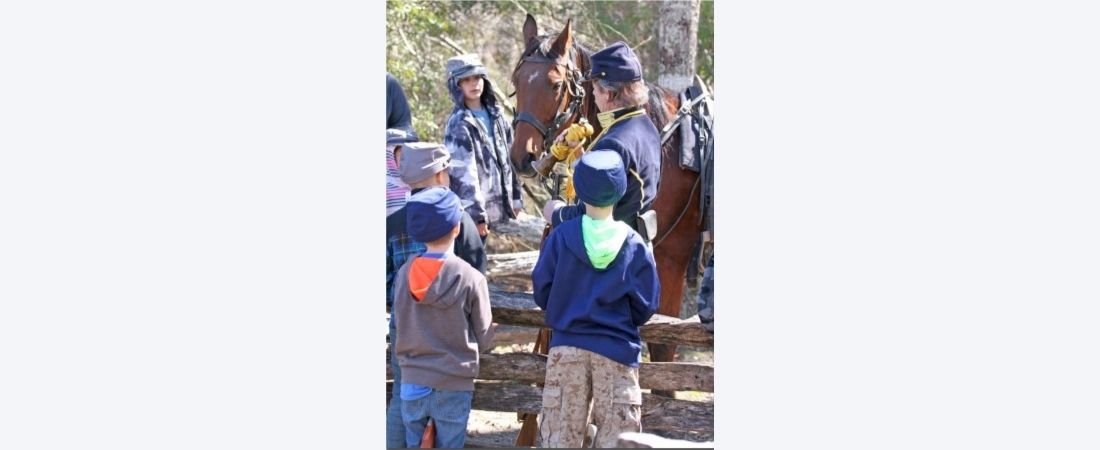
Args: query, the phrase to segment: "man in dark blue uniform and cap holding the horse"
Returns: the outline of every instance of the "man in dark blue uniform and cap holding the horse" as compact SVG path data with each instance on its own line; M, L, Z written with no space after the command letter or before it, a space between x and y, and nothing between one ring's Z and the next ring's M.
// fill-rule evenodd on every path
M627 187L626 194L615 204L615 220L629 224L648 241L656 230L650 229L647 233L639 222L640 216L652 209L661 179L661 138L646 114L649 89L642 79L641 64L634 51L622 42L594 53L591 61L592 72L587 79L592 80L603 132L593 140L588 151L610 151L622 157L627 169ZM556 199L547 204L543 215L547 222L557 227L562 221L584 216L584 204L566 206ZM656 226L656 220L649 223Z

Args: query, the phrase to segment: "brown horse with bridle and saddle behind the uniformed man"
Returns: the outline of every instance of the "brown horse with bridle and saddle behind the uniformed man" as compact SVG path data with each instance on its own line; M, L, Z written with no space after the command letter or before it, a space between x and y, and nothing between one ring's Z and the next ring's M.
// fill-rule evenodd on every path
M524 56L516 64L512 83L516 89L515 142L512 164L525 177L537 176L531 167L562 130L585 117L598 135L596 105L591 81L578 83L590 69L592 52L573 40L570 23L557 35L538 35L535 18L524 23ZM650 119L662 129L680 108L678 92L669 92L646 83ZM583 89L583 96L581 90ZM582 98L583 97L583 98ZM680 167L679 133L661 146L661 179L653 209L657 211L657 238L653 257L661 281L659 314L680 317L684 278L692 252L703 231L698 174ZM675 345L650 344L653 361L669 362L675 356Z

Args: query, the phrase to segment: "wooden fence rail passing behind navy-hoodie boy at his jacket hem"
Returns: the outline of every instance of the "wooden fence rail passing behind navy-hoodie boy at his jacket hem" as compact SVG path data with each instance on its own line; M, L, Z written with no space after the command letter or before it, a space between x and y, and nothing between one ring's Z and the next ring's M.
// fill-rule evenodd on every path
M542 383L547 358L535 353L483 354L480 380ZM680 362L644 362L638 367L644 389L714 392L714 366Z

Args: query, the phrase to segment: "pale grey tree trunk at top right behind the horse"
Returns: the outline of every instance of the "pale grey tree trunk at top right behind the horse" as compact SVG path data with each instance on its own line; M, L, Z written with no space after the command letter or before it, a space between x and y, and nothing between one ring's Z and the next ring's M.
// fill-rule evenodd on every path
M682 92L695 76L700 0L664 0L657 24L657 85Z

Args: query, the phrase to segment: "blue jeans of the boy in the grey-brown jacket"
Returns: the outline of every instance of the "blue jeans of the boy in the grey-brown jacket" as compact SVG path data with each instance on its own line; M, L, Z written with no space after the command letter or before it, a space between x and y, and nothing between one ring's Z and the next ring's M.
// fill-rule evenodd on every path
M428 418L436 421L436 448L461 449L466 443L466 421L474 399L473 391L439 391L415 400L404 400L405 443L420 447Z

